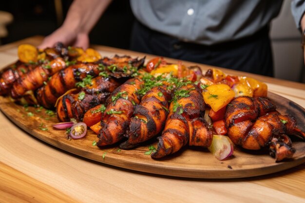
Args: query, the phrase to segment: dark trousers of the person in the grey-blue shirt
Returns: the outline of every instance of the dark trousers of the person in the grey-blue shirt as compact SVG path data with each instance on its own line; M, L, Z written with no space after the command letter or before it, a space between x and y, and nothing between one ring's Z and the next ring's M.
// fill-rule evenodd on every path
M182 42L135 21L130 48L147 54L273 76L268 27L250 37L206 46Z

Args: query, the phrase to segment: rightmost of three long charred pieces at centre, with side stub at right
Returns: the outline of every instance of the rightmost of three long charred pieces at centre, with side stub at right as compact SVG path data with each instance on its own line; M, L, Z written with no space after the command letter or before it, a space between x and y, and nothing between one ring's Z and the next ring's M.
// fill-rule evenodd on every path
M165 128L161 137L158 137L158 148L152 153L152 158L175 153L188 143L202 147L211 144L212 132L201 119L205 105L200 90L193 85L186 85L176 90L175 95L173 99L176 98L176 101L173 100L170 105Z

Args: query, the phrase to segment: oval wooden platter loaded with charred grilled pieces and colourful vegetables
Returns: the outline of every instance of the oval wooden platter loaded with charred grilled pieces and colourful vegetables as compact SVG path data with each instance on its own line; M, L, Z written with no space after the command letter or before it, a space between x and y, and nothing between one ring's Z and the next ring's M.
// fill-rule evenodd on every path
M305 110L256 79L162 57L23 44L0 72L0 110L57 148L188 178L242 178L305 162Z

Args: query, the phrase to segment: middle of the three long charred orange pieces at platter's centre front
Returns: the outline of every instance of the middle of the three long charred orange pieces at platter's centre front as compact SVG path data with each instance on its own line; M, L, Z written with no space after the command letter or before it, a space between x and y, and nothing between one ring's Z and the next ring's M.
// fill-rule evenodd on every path
M171 97L166 86L154 87L148 91L140 105L135 106L129 130L125 135L128 140L121 143L120 148L133 148L157 135L164 127Z

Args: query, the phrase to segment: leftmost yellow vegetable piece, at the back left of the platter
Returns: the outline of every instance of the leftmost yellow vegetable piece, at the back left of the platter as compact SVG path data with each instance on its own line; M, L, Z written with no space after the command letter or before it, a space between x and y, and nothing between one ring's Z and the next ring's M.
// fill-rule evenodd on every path
M21 44L18 47L18 57L24 63L37 62L38 50L30 44Z

